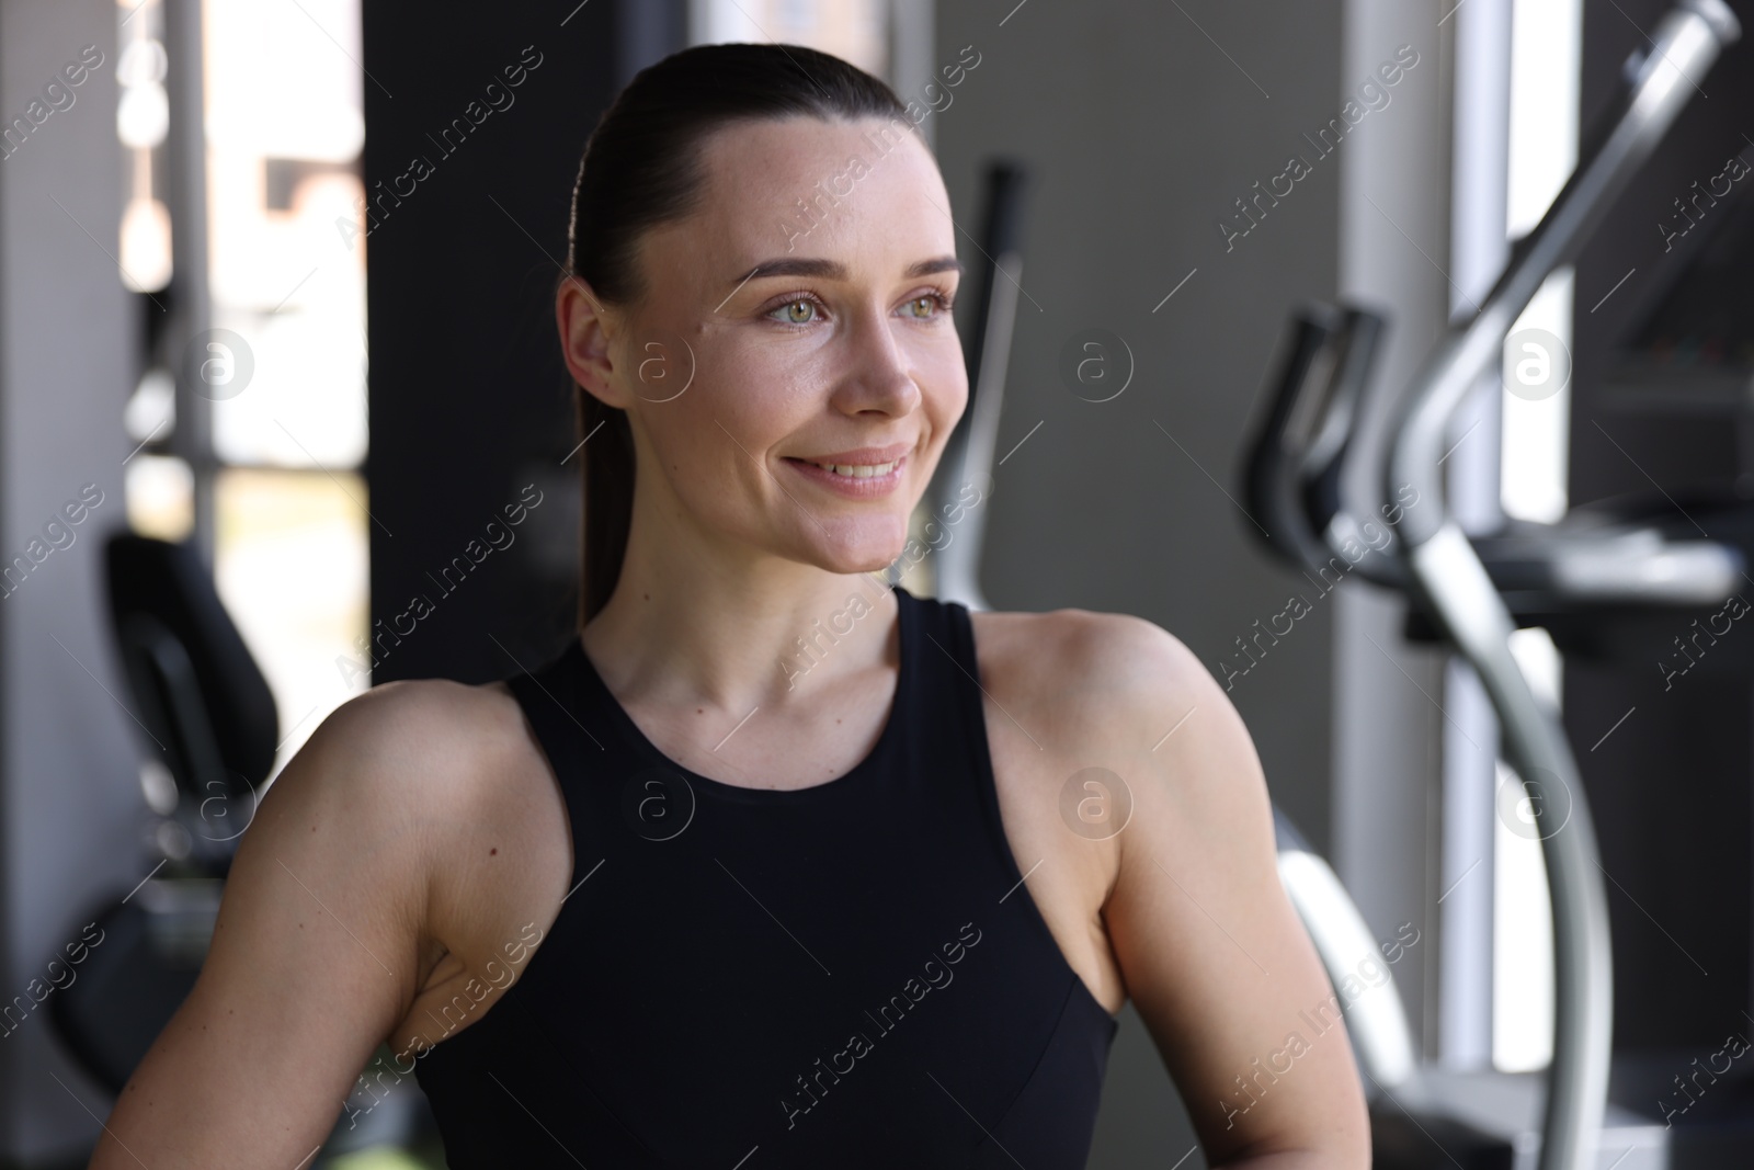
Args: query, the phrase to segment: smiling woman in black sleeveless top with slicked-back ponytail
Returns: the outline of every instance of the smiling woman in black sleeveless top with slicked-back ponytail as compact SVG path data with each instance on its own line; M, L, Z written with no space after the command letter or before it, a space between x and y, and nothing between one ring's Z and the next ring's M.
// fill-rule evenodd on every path
M1070 1168L1128 998L1210 1165L1368 1163L1344 1030L1284 1065L1328 982L1198 660L870 575L968 398L954 233L837 58L633 79L556 293L582 630L323 723L93 1166L302 1165L416 1075L453 1170Z

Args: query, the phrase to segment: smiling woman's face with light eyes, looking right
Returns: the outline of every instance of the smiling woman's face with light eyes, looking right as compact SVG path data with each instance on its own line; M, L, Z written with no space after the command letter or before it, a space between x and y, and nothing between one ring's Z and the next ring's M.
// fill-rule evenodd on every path
M638 307L596 332L561 289L574 375L628 412L640 509L837 574L902 554L968 377L949 196L900 125L728 126L700 210L640 242Z

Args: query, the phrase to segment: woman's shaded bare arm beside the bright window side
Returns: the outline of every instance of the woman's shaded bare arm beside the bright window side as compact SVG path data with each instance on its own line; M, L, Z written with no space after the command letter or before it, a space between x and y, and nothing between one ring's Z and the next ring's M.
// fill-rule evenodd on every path
M284 1170L328 1137L437 958L426 826L467 767L442 726L461 688L442 688L349 700L270 786L195 989L123 1089L91 1170Z

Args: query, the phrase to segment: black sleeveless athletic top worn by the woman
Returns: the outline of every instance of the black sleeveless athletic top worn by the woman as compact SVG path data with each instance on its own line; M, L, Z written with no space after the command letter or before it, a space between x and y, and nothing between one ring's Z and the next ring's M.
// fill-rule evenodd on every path
M416 1058L451 1170L1084 1166L1119 1024L1005 838L968 610L895 593L882 735L803 789L668 760L579 639L509 679L574 867Z

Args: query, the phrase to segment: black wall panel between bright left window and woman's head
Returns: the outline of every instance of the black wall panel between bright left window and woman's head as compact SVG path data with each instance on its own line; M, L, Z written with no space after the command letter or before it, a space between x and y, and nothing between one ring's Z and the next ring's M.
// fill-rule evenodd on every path
M365 5L375 682L503 677L574 626L553 291L591 128L681 47L681 4L640 9Z

